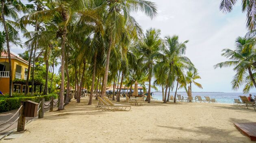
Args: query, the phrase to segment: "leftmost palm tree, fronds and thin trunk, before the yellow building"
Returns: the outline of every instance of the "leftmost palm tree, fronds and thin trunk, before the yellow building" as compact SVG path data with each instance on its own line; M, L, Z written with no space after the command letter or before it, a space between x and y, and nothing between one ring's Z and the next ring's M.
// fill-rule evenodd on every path
M18 12L22 12L26 10L26 6L22 4L20 0L1 0L1 23L4 26L4 32L5 32L5 39L7 44L7 52L8 52L8 62L9 62L9 72L12 73L11 68L11 50L10 50L10 37L9 33L12 33L15 36L18 36L17 28L20 28L20 25L15 23L14 21L11 21L7 18L11 19L17 19L18 18ZM24 31L24 30L23 30ZM12 96L12 86L13 86L13 79L12 74L9 74L9 96Z

